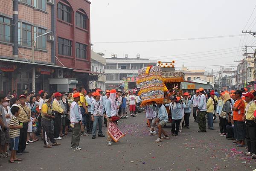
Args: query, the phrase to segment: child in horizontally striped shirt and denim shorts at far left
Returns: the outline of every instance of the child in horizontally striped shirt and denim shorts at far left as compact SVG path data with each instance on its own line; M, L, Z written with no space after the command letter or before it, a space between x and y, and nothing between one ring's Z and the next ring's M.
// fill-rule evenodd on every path
M20 129L23 128L23 125L19 124L19 119L17 119L17 116L19 115L19 110L20 108L17 106L12 107L11 109L12 117L10 120L9 136L11 141L12 154L9 160L10 163L22 160L16 157L16 151L19 148Z

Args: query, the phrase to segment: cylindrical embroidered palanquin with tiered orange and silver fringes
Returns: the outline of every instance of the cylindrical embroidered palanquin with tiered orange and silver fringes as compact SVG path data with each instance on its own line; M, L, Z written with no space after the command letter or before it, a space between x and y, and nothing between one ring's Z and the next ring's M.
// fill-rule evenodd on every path
M163 84L162 70L160 66L150 66L138 70L140 91L138 93L142 98L142 105L152 102L163 103L164 91L166 87Z

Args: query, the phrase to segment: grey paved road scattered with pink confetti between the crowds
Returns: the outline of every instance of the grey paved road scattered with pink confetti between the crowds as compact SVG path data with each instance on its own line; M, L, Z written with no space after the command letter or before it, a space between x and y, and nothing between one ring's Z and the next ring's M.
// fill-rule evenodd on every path
M190 117L192 121L192 116ZM217 130L197 133L191 122L177 137L155 143L148 135L145 114L122 119L126 134L120 143L106 145L105 138L81 137L81 151L70 149L70 134L61 146L43 148L43 142L29 144L21 162L0 159L0 171L253 171L256 160L244 156L244 149L219 136ZM214 124L218 128L218 123ZM165 128L170 133L170 124Z

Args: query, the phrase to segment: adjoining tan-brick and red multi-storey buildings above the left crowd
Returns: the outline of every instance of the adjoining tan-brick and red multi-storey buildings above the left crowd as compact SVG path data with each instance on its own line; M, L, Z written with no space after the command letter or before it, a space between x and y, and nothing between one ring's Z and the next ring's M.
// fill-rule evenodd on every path
M32 80L36 92L87 87L89 72L89 1L0 1L0 92L32 90Z

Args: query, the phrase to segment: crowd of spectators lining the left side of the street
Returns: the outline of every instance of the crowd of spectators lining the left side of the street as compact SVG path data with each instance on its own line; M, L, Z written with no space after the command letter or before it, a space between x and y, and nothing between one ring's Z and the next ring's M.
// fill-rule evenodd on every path
M127 119L129 113L136 117L136 104L141 100L135 94L134 91L86 91L84 87L67 93L48 94L40 90L35 94L27 88L20 96L16 91L9 91L6 96L0 94L0 157L10 157L10 163L21 161L17 156L28 153L26 145L37 142L40 136L44 148L52 148L61 145L57 141L70 131L71 149L81 150L81 136L105 137L103 123L106 127L109 122L117 125L118 120ZM107 145L112 143L107 132Z

